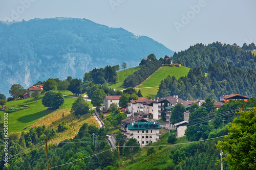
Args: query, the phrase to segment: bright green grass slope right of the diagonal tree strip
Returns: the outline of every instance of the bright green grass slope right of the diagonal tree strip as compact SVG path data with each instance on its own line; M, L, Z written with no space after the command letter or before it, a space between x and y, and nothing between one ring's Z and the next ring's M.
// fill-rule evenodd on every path
M140 87L156 87L159 86L161 81L164 80L168 75L175 76L176 79L179 79L182 76L187 75L190 68L188 67L169 67L163 66L160 67L153 75L147 80L145 80Z

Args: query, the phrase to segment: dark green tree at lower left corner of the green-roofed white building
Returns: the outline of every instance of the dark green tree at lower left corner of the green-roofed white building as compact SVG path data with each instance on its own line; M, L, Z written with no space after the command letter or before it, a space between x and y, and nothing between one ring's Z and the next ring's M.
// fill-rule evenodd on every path
M129 157L131 162L133 162L135 154L140 151L140 144L137 143L137 139L130 138L126 143L123 149L124 156Z

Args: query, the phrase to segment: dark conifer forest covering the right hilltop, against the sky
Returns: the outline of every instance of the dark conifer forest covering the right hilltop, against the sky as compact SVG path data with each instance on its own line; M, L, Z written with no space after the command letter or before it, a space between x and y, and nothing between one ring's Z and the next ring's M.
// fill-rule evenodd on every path
M181 61L183 66L194 68L202 65L205 72L210 63L218 62L239 67L245 70L256 70L256 57L236 45L214 42L208 45L202 43L190 46L187 50L175 53L174 62Z

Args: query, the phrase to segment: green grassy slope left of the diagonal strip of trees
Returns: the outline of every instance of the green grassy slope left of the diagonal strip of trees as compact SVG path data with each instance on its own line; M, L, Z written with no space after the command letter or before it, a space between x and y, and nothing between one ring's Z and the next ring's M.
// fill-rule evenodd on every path
M133 67L133 68L128 68L128 69L125 69L125 70L122 70L122 71L118 71L118 75L119 75L119 83L109 83L109 87L110 88L114 88L114 89L117 89L117 90L122 90L124 89L123 87L123 81L126 79L126 77L134 74L135 71L137 71L138 69L140 69L139 66L137 67ZM117 76L118 77L118 76Z

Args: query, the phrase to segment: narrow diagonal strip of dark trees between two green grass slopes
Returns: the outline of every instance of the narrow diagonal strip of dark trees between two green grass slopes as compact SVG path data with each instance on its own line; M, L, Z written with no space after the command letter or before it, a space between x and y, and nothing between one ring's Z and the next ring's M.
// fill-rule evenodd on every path
M124 82L124 87L135 87L142 83L146 78L152 75L159 67L161 67L162 63L153 58L151 61L146 62L145 65L141 66L141 69L135 71L133 75L128 76Z

